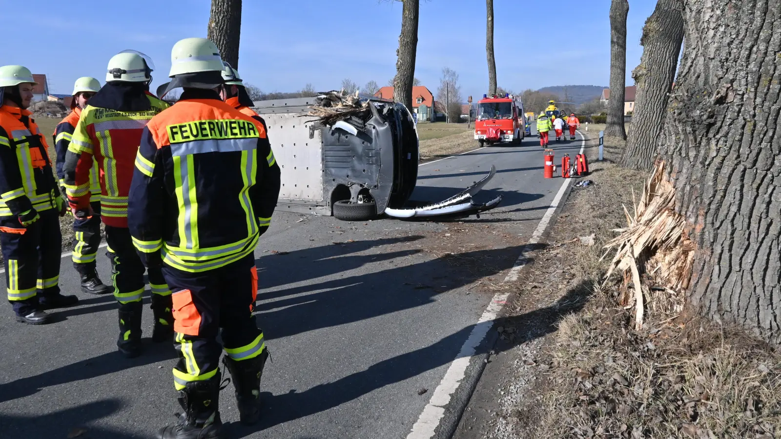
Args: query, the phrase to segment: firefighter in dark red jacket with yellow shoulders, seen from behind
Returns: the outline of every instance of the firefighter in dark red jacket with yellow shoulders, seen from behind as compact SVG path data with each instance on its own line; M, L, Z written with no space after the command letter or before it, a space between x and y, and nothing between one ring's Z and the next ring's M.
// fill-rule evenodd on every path
M112 263L114 296L119 302L116 344L128 358L141 355L144 265L127 228L127 196L141 131L152 116L169 106L148 93L151 73L149 62L138 52L120 52L109 60L105 85L82 110L63 166L73 216L87 219L93 215L90 173L93 161L98 162L101 218L109 244L106 255ZM147 274L155 319L152 341L166 341L173 337L171 291L159 269L148 269Z

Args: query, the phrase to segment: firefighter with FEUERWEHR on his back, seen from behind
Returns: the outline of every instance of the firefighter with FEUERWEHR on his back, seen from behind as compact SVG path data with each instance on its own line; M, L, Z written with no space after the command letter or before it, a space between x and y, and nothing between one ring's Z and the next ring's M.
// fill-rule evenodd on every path
M144 129L128 223L144 262L162 266L174 291L173 381L184 413L158 437L220 437L223 347L241 423L260 417L268 352L250 312L253 251L276 207L280 168L262 123L220 100L223 62L214 43L178 41L171 62L169 89L184 93Z

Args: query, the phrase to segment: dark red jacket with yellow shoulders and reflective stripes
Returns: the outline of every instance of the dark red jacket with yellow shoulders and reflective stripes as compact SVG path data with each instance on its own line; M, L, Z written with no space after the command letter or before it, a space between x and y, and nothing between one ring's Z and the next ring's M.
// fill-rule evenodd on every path
M152 105L146 111L124 112L87 105L68 145L69 155L74 157L66 157L63 166L68 202L71 208L88 208L92 163L98 162L101 219L107 226L127 227L127 196L141 131L152 117L169 107L154 95L147 93L146 97Z

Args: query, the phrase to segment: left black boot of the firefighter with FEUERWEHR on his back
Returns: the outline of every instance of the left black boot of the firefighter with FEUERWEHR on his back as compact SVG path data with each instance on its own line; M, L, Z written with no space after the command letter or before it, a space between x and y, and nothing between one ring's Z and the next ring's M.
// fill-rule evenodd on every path
M158 439L219 439L223 421L219 419L219 370L209 380L191 381L179 391L176 425L162 427Z

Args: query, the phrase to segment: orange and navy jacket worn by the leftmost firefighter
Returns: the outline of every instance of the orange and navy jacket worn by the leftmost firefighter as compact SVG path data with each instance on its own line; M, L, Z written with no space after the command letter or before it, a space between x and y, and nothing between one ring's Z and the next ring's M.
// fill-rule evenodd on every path
M56 207L48 145L26 109L0 107L0 217Z

